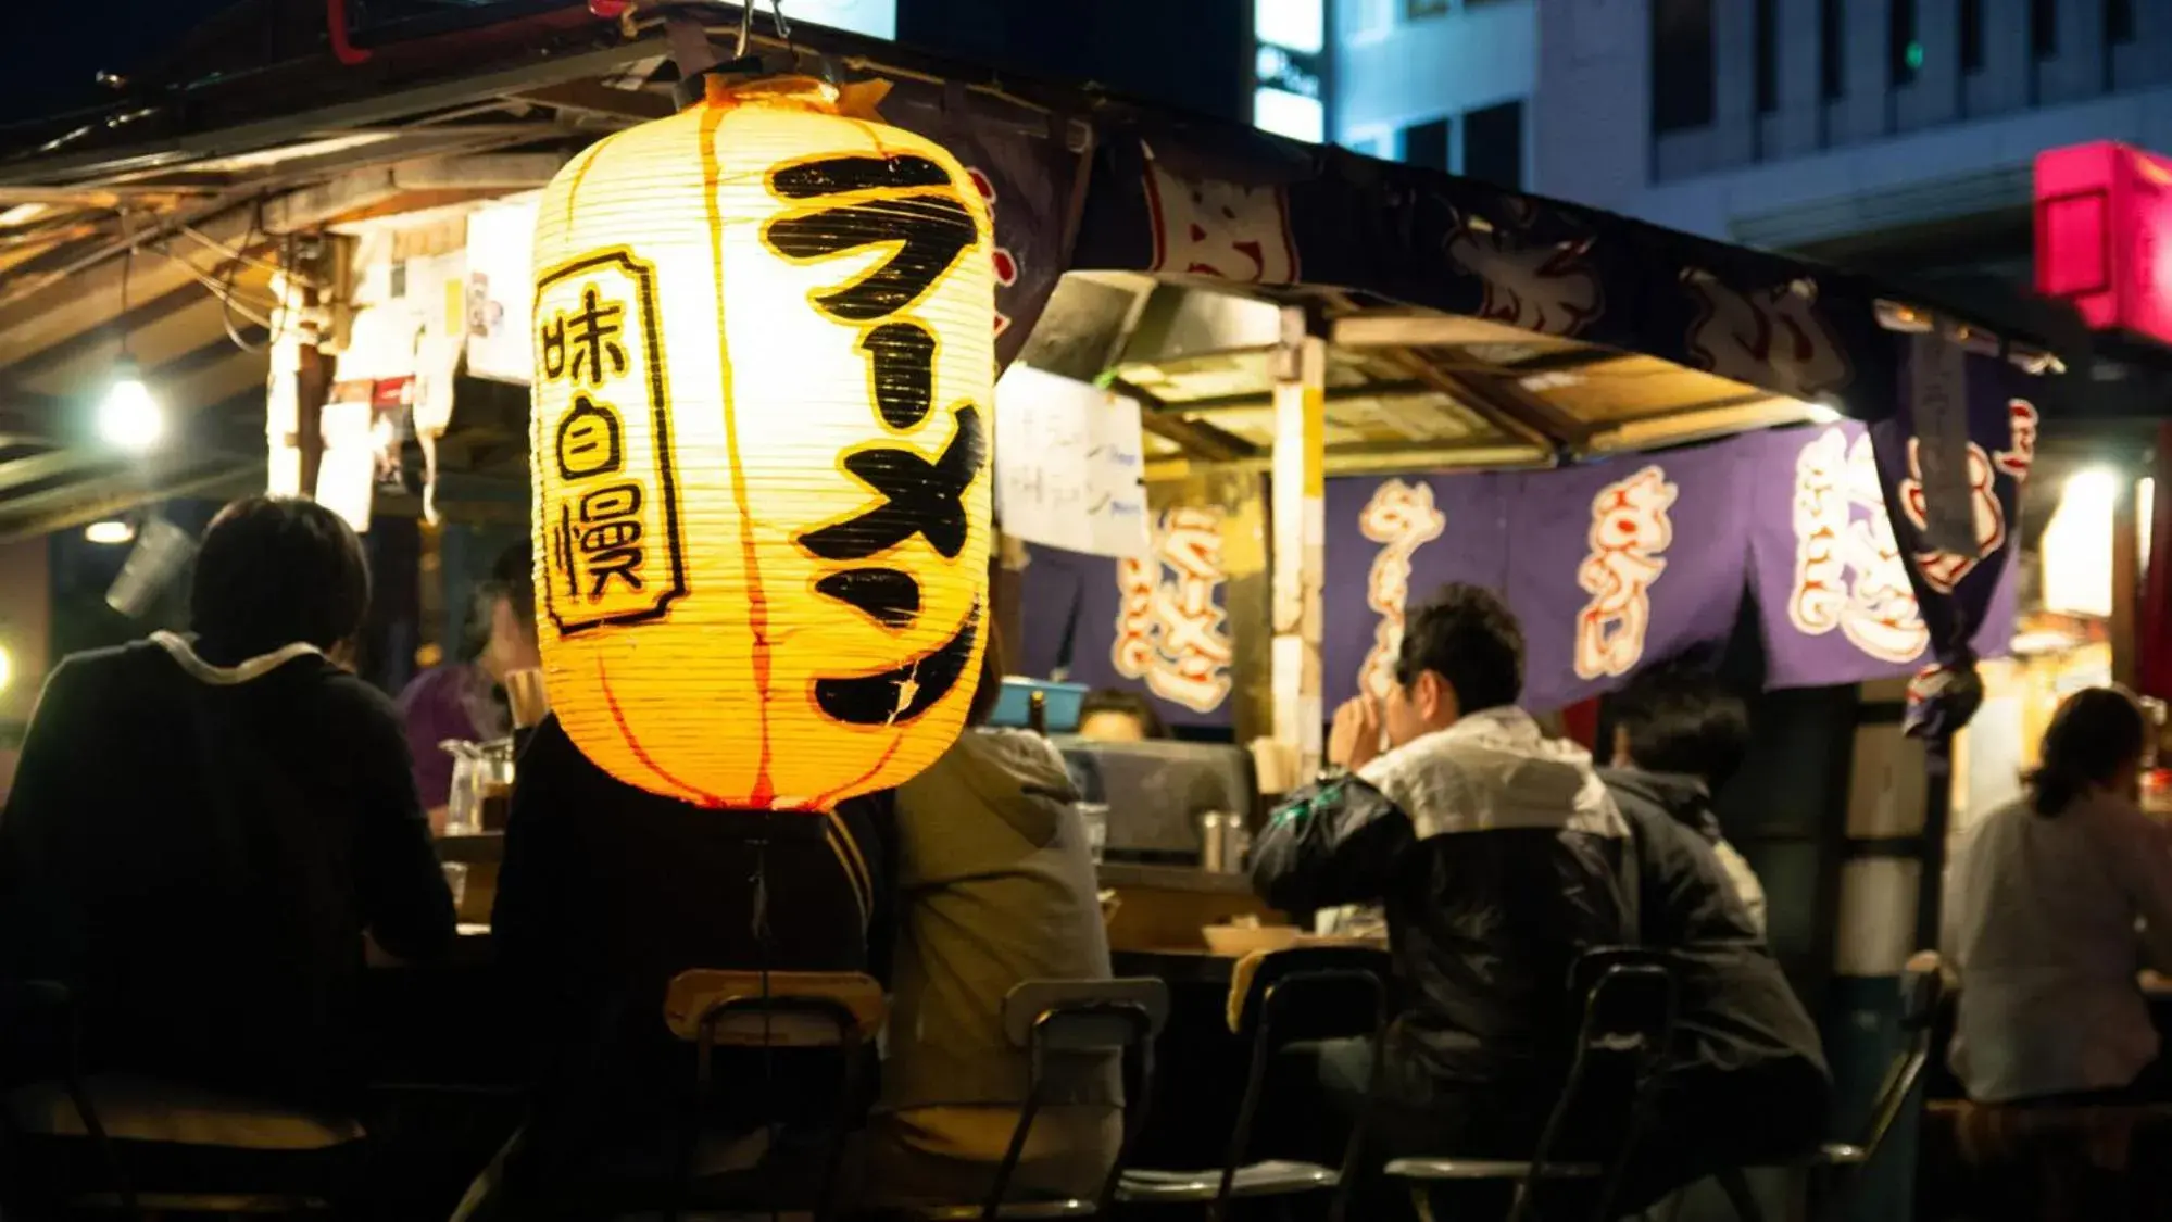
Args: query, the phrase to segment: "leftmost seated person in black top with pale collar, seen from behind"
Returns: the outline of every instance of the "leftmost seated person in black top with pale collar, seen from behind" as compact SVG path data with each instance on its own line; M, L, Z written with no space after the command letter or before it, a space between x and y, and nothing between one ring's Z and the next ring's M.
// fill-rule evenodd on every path
M46 684L0 816L0 977L74 985L93 1070L345 1107L363 933L450 946L400 718L326 658L367 603L334 512L252 497L204 532L193 638Z

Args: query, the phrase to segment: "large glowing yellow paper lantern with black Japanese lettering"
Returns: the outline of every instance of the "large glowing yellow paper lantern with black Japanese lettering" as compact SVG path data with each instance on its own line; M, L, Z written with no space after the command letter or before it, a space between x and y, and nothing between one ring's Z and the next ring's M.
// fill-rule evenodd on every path
M536 217L536 619L604 771L823 810L964 723L988 619L990 228L940 148L771 78Z

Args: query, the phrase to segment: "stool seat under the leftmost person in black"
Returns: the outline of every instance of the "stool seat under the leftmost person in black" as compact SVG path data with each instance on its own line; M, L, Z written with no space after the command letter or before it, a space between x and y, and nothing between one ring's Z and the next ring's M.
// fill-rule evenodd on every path
M96 1074L85 1094L109 1137L235 1150L330 1150L365 1137L352 1116L302 1111L195 1085ZM67 1087L39 1081L7 1094L9 1120L39 1137L89 1137Z

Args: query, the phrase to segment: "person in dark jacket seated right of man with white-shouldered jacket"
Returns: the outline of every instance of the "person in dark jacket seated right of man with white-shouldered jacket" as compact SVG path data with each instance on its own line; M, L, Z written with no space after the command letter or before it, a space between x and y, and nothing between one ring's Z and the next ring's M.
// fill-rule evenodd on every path
M1718 682L1655 671L1629 686L1616 758L1655 771L1601 773L1636 838L1642 944L1675 970L1675 1046L1629 1183L1640 1209L1731 1166L1809 1155L1824 1135L1831 1074L1818 1027L1764 946L1744 903L1755 875L1720 855L1712 790L1748 751L1748 714ZM1731 853L1729 853L1731 857Z

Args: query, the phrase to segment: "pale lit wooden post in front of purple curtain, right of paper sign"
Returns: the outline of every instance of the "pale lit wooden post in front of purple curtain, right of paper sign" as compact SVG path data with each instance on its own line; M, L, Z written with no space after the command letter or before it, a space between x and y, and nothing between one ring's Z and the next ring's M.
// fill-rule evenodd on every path
M1275 349L1275 742L1295 751L1297 777L1321 768L1321 584L1327 512L1327 341L1305 310L1281 310Z

